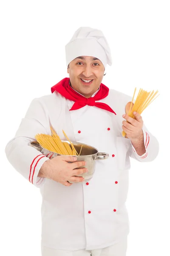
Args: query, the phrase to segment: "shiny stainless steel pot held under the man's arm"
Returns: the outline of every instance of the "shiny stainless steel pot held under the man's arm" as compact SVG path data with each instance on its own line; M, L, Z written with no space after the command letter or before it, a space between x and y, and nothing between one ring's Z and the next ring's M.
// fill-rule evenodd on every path
M67 142L70 145L68 140L62 140L62 142ZM85 167L88 169L88 172L77 175L77 176L83 177L85 179L85 181L88 181L93 177L96 160L108 159L109 154L104 153L104 152L98 152L98 150L96 148L94 148L90 145L86 145L86 144L75 142L75 141L71 141L71 143L73 143L73 145L78 153L80 152L80 149L82 147L81 155L76 156L76 157L77 157L77 161L85 161L86 162L85 166L80 166L79 168ZM36 148L38 151L40 151L42 154L44 154L49 159L52 159L52 158L60 155L60 154L54 153L52 151L48 151L45 148L42 148L41 145L37 141L30 142L28 145ZM76 169L79 169L79 168L76 168ZM69 181L69 182L72 183L71 181Z

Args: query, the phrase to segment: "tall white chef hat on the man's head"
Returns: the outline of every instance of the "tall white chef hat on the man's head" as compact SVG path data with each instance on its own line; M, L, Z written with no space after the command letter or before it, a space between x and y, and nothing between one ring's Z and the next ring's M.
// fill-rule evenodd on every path
M79 56L92 56L98 58L104 67L111 66L111 49L99 29L80 27L65 46L66 64Z

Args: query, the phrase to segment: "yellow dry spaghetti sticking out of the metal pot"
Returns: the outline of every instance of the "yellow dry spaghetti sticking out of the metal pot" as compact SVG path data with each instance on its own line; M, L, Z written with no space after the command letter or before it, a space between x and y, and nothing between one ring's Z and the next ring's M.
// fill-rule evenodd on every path
M62 142L58 136L58 134L54 131L51 127L51 135L48 134L37 134L35 136L37 142L42 146L42 148L47 149L48 151L62 154L62 155L80 155L82 151L77 153L76 149L74 148L73 143L68 139L67 135L64 131L62 131L67 140L69 141L70 145L67 142Z

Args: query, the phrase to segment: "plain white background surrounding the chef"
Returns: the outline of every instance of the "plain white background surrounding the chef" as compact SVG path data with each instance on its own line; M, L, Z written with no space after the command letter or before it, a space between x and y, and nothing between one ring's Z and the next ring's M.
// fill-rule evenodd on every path
M31 100L68 77L65 44L80 26L101 29L113 65L102 83L133 96L159 90L142 113L160 144L150 163L131 160L127 256L170 255L170 8L169 1L8 1L0 5L0 255L40 256L41 196L8 163ZM67 232L67 230L65 230Z

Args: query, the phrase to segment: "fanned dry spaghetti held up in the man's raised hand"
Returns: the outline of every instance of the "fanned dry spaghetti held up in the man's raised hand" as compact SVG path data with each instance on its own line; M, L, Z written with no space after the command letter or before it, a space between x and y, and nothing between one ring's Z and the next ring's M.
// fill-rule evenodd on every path
M132 118L135 118L135 116L133 115L134 111L141 114L144 111L144 109L147 108L150 105L150 103L152 103L159 96L159 95L156 96L156 94L158 93L158 90L154 93L154 90L152 92L151 91L147 92L142 88L140 88L139 93L136 97L136 100L133 104L135 93L136 93L136 88L133 93L133 99L131 101L130 108L128 111L128 116ZM126 135L125 131L122 131L122 136L125 137L125 135Z

